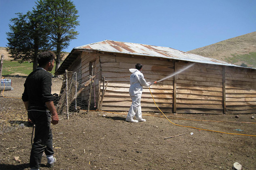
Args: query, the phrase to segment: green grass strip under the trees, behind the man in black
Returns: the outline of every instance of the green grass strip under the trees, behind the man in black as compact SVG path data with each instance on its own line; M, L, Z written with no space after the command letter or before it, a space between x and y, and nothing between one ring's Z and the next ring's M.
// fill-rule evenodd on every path
M12 75L16 73L17 75L29 75L33 71L33 63L18 63L18 61L8 61L5 60L2 68L2 75ZM55 65L52 69L52 75L55 73Z

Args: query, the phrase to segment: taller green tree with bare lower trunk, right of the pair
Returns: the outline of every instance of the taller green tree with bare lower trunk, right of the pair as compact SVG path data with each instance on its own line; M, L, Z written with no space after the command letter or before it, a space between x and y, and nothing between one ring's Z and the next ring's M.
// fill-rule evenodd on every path
M38 0L36 5L56 51L56 71L61 64L61 51L78 35L75 31L76 26L79 25L78 10L70 0Z

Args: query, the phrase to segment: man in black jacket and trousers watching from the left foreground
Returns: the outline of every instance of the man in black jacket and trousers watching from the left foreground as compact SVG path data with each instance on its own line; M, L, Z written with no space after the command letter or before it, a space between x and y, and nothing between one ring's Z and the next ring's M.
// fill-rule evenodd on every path
M57 124L59 117L53 104L51 94L52 71L55 54L51 51L38 55L38 68L28 75L24 84L22 100L28 111L28 121L35 127L35 137L30 154L31 170L39 170L43 152L47 156L47 167L52 167L56 162L53 157L52 130L50 124Z

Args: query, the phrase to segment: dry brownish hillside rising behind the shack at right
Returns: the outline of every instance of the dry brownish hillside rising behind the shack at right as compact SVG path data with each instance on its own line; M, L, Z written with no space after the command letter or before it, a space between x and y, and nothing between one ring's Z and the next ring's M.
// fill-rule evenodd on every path
M256 32L217 42L188 53L215 58L235 65L256 68Z

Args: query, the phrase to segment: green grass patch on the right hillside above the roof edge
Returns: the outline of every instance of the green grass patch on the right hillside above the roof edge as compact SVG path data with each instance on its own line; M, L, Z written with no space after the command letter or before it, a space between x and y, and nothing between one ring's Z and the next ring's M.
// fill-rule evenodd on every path
M245 63L248 67L256 68L256 52L249 54L232 54L232 57L226 58L228 63Z

